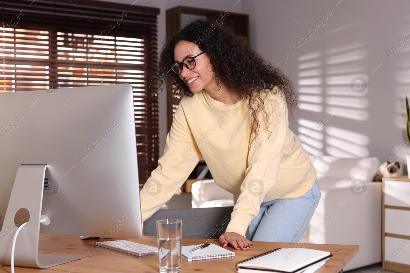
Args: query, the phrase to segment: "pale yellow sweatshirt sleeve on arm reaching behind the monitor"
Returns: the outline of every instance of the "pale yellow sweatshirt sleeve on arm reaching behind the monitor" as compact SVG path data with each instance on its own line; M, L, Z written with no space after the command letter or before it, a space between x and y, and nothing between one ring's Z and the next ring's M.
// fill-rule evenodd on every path
M140 191L143 222L171 199L202 157L182 104L183 99L173 117L171 130L166 136L164 154L158 160L158 167L151 172Z

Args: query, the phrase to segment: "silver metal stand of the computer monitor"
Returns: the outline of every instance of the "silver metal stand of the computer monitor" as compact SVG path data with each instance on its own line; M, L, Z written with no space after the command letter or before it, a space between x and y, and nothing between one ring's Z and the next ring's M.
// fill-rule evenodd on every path
M44 177L47 165L20 165L14 180L9 205L3 222L0 243L0 264L10 265L11 246L17 226L27 222L18 233L14 251L16 266L48 268L81 257L38 253L43 200ZM5 232L7 229L11 232Z

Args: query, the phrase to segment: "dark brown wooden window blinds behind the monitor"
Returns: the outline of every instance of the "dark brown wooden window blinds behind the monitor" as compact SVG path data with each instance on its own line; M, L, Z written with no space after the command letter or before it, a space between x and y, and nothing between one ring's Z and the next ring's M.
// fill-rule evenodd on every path
M130 83L140 186L158 161L159 9L93 0L0 1L0 92Z

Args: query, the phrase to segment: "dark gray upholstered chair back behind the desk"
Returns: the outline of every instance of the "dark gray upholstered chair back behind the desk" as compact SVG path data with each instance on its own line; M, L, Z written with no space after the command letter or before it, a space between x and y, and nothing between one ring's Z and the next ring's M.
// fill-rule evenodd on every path
M144 222L144 235L157 236L157 220L182 219L182 237L219 239L232 210L233 207L158 210Z

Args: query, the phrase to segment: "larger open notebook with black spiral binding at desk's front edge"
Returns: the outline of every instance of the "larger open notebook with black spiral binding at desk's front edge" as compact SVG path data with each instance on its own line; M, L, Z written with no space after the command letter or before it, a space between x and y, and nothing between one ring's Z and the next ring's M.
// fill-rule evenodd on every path
M255 257L237 262L238 273L298 273L317 269L333 255L328 251L310 248L276 248Z

